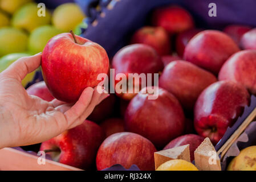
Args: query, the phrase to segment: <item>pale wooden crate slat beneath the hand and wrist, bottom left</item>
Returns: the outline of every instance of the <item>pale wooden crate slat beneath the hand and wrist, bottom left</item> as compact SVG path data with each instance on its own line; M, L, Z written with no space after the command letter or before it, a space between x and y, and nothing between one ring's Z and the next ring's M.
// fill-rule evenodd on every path
M38 157L14 148L0 150L0 170L2 171L80 171L82 169L67 166L46 159L46 164L38 164Z

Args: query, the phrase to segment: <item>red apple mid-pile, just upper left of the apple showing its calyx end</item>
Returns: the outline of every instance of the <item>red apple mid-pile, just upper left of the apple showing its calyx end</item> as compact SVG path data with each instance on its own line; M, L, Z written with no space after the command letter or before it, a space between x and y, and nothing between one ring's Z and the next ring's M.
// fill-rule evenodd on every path
M186 111L193 111L198 96L217 78L188 61L173 61L164 68L159 86L172 93Z

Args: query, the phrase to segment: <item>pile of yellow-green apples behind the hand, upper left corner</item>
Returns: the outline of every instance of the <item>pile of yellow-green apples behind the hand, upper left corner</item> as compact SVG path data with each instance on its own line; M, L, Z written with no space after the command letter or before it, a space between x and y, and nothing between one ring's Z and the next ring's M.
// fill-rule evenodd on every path
M76 30L84 17L75 3L60 5L51 13L33 0L1 0L0 72L20 57L42 52L53 36ZM34 76L35 72L27 75L23 86Z

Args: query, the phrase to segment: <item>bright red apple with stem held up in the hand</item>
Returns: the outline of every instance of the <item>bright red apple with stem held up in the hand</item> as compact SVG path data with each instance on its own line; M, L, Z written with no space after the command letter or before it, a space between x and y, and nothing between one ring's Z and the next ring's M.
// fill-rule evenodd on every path
M42 54L42 71L52 96L75 102L88 87L95 87L100 73L108 73L108 55L99 44L70 33L51 38Z

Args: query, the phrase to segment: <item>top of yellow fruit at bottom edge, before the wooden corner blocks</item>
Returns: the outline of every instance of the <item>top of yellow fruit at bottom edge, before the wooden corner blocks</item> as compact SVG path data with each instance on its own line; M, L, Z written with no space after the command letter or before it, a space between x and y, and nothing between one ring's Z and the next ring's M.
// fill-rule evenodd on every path
M161 164L156 171L198 171L198 169L186 160L173 159Z

